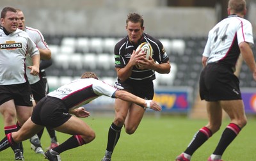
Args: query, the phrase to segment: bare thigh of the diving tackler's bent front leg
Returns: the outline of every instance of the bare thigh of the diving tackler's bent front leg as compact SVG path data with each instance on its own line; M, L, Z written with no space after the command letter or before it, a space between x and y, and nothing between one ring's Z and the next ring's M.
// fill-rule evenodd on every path
M89 127L89 125L87 125L82 119L74 116L71 116L68 121L63 123L63 125L60 127L54 128L54 130L70 135L90 136L94 134L92 128Z

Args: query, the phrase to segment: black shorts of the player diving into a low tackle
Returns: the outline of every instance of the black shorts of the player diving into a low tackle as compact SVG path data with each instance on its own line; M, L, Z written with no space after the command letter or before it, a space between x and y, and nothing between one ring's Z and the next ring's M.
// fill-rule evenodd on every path
M31 120L36 125L56 128L71 118L68 109L62 100L46 96L40 100L33 109Z

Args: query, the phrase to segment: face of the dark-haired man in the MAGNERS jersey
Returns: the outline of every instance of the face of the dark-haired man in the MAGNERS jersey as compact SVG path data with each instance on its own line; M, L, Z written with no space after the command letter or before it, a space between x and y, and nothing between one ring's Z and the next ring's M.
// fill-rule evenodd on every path
M17 30L18 14L13 11L7 11L6 16L1 19L1 26L3 26L9 33Z

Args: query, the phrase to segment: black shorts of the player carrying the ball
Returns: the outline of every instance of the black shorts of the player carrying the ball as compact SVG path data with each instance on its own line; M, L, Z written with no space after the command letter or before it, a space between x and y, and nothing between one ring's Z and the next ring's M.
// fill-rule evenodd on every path
M154 97L154 84L153 81L134 81L134 82L116 82L125 90L133 95L139 96L145 100L152 100Z

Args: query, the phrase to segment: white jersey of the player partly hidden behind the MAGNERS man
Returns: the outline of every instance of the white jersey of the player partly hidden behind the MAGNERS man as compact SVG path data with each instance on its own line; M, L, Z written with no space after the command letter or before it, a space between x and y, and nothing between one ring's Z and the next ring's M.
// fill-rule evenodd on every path
M44 40L43 34L38 29L34 29L32 27L26 26L24 31L28 33L29 38L31 38L31 40L36 44L36 47L38 47L39 49L49 49L47 43ZM26 66L32 66L32 65L33 65L33 61L31 57L27 56ZM36 76L31 75L29 72L30 72L29 70L26 70L29 84L34 84L40 81L40 75L36 75Z

